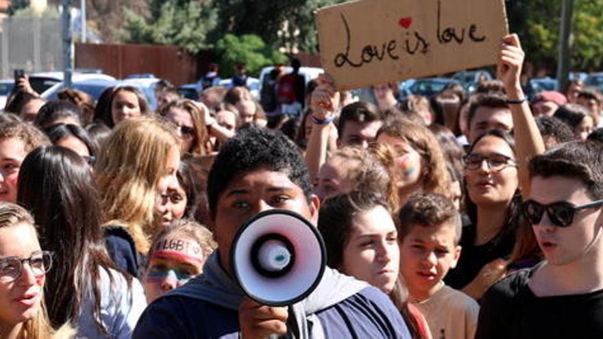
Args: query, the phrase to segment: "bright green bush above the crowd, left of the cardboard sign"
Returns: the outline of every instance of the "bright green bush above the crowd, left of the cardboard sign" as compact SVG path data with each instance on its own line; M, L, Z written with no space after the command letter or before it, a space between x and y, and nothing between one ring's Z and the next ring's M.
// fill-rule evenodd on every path
M226 34L218 40L215 48L220 57L222 75L232 75L238 62L246 64L247 73L258 75L262 67L271 64L285 64L287 57L272 49L259 36Z

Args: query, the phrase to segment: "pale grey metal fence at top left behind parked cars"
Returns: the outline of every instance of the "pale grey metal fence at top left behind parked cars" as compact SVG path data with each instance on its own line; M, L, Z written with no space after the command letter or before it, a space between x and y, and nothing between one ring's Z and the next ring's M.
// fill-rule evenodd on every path
M16 68L27 73L62 69L60 21L5 18L0 25L0 79L11 78Z

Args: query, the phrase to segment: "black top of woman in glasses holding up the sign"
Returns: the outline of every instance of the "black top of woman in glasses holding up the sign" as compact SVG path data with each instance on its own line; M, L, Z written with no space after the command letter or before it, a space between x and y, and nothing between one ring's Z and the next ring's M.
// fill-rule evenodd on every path
M471 223L469 218L463 218L463 236L460 238L460 246L463 249L460 251L456 268L450 270L444 278L445 283L460 290L480 273L485 264L496 259L508 258L515 244L516 228L506 225L492 240L476 246L476 225Z

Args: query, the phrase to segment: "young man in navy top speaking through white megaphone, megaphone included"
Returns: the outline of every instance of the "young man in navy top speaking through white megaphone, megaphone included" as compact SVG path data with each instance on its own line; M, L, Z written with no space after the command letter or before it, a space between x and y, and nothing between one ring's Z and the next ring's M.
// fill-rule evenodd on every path
M321 251L304 247L316 242L323 249L307 227L313 229L320 203L301 153L286 136L251 127L228 140L210 170L208 201L217 251L202 275L147 307L134 338L410 338L386 294L325 268L316 260ZM271 213L275 209L282 212ZM258 260L234 260L233 253L255 247L242 235L252 226L278 233L282 242L262 243ZM257 231L255 242L265 233ZM268 267L256 270L264 261ZM278 271L280 262L282 275L258 273ZM254 288L260 292L250 293Z

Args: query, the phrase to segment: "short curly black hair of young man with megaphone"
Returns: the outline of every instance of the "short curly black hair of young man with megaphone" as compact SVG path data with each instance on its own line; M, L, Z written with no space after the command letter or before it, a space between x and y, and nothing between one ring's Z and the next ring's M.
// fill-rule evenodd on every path
M222 145L208 176L208 204L215 215L219 195L239 173L257 169L286 173L310 203L312 186L298 147L279 131L259 127L240 129Z

